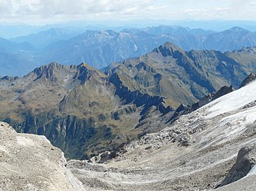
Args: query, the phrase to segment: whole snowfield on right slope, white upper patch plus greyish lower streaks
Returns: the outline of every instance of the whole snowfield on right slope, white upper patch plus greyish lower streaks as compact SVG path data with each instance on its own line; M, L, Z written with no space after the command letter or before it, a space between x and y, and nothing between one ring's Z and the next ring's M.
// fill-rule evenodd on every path
M199 114L211 124L199 136L199 145L207 148L244 135L244 131L256 121L256 106L241 108L255 100L256 80L199 108Z

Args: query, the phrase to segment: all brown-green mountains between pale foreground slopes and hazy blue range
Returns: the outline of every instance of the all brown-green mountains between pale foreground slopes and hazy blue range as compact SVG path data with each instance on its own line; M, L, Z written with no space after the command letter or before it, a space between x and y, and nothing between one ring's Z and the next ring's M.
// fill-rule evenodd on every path
M24 77L1 77L0 120L45 135L68 159L88 159L161 130L213 100L204 96L220 87L240 87L254 71L255 55L254 48L185 52L164 43L102 71L50 63ZM214 99L231 89L221 88Z

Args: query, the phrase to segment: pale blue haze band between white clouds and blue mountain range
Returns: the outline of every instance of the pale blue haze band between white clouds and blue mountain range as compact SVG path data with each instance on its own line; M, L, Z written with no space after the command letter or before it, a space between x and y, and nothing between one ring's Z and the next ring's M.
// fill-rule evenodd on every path
M151 26L182 26L190 29L204 29L213 31L223 31L238 26L251 32L256 31L256 21L242 20L168 20L168 19L134 19L126 22L122 20L99 20L99 21L69 21L56 22L52 24L29 25L22 22L0 22L0 38L10 39L19 36L27 36L32 33L45 31L51 28L68 29L75 32L85 32L88 29L106 30L112 29L119 32L122 29L146 28Z

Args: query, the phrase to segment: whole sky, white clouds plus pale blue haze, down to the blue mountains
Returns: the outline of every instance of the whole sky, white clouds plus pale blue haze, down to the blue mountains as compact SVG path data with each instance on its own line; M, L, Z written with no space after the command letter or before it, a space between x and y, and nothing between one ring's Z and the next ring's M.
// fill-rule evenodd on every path
M183 26L256 31L256 0L0 0L0 37L26 36L53 27L123 29Z

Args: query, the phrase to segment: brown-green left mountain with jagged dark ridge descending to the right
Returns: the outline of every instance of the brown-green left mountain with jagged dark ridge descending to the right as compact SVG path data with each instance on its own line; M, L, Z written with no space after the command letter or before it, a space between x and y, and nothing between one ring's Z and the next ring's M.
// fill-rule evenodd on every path
M162 97L113 81L85 63L50 63L24 77L3 77L1 119L19 132L46 135L68 158L86 159L136 138L143 128L134 128L152 107L161 107L158 115L171 109Z

